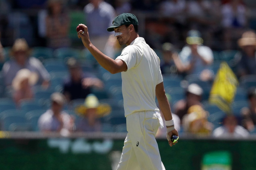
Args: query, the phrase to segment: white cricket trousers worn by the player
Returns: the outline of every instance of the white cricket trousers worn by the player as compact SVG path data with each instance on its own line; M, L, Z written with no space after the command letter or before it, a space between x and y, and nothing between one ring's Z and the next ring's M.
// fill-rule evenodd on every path
M165 170L155 139L159 120L155 111L126 117L127 136L117 170Z

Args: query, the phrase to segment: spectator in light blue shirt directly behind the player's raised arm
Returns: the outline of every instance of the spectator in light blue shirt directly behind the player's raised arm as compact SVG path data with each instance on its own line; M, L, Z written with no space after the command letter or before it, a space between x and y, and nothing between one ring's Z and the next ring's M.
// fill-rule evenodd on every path
M90 0L90 3L84 7L84 13L91 42L104 52L109 36L112 35L106 28L116 17L115 9L103 0Z

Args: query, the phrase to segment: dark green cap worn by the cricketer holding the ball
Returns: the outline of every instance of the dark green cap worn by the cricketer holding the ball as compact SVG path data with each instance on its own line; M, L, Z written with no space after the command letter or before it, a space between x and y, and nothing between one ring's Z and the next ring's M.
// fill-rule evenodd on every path
M108 27L107 31L114 31L115 27L119 27L121 25L138 25L138 19L134 14L130 13L122 13L118 15L114 20L110 27Z

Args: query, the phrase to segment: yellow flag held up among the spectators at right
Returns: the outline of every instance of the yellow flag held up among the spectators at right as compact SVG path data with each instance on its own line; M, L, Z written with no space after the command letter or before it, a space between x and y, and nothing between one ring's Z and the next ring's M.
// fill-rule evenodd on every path
M225 61L222 62L211 88L209 102L216 104L224 112L231 113L230 104L233 102L237 86L236 75Z

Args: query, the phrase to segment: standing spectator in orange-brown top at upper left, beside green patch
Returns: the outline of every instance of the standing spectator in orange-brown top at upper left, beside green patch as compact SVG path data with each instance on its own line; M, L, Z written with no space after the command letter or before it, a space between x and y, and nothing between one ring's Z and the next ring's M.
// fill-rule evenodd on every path
M64 1L48 0L48 14L45 24L48 47L56 49L70 46L70 19L64 9Z

